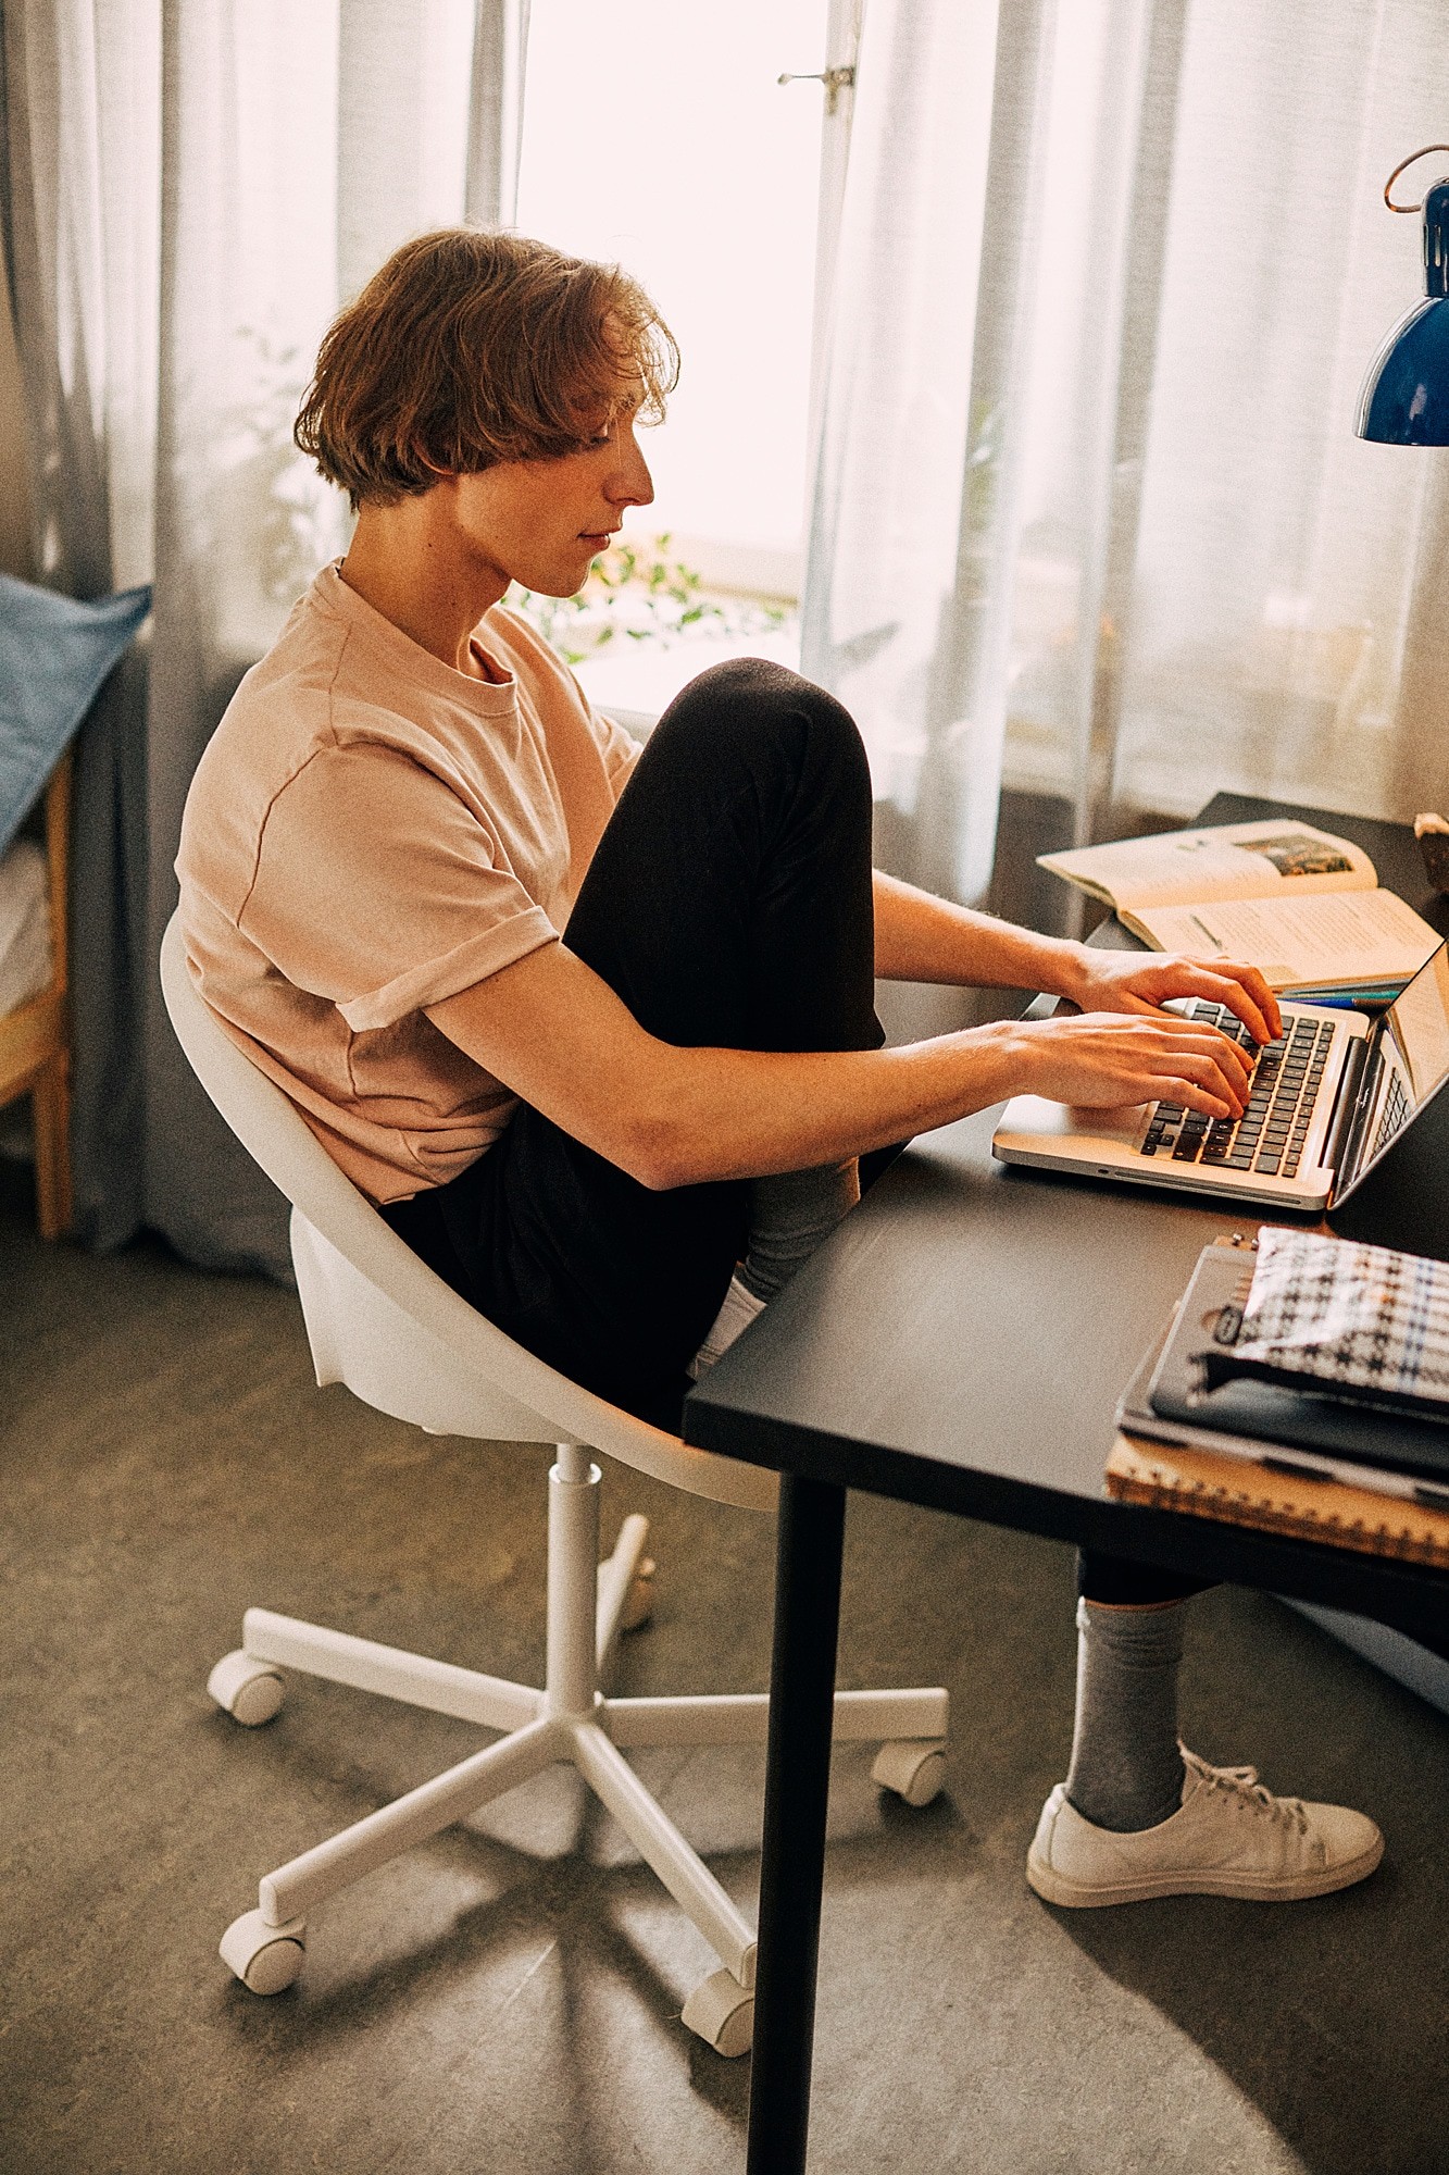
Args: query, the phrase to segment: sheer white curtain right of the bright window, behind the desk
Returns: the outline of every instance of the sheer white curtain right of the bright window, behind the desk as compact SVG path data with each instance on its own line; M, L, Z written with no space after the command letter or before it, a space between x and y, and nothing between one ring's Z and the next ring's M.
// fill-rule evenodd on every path
M1003 779L1449 796L1447 457L1353 437L1447 67L1440 0L868 0L805 670L890 866L979 898Z

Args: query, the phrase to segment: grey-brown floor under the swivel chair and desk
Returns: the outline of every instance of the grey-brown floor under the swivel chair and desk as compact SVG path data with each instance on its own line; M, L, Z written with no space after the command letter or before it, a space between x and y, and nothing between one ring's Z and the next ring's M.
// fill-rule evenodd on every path
M461 1757L461 1725L296 1681L205 1696L248 1601L533 1675L544 1459L429 1440L311 1383L296 1301L159 1246L39 1246L0 1183L0 2168L4 2175L716 2175L746 2062L679 2023L703 1942L550 1775L335 1899L246 1994L215 1942L270 1864ZM766 1681L766 1520L609 1470L655 1520L633 1690ZM1064 1549L855 1499L844 1683L944 1681L949 1790L835 1762L812 2168L1449 2171L1449 1725L1273 1601L1197 1605L1188 1740L1345 1794L1360 1890L1064 1914L1023 1881L1062 1773ZM642 1762L753 1899L761 1762Z

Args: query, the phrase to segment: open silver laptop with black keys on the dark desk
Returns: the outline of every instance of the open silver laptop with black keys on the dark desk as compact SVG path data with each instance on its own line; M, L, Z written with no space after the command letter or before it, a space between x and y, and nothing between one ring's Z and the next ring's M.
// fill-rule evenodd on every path
M1194 998L1171 1009L1255 1048L1221 1005ZM1025 1094L1001 1114L992 1155L1264 1207L1336 1207L1449 1081L1449 946L1375 1020L1316 1005L1279 1009L1284 1033L1258 1055L1242 1118L1203 1118L1177 1103L1068 1109Z

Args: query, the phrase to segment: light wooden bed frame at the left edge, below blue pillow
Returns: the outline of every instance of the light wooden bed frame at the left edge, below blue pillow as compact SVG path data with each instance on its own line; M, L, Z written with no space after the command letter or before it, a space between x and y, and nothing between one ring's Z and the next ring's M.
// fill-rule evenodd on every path
M0 1107L20 1094L35 1114L35 1220L41 1238L70 1231L70 787L65 753L46 787L46 863L50 877L50 985L0 1016Z

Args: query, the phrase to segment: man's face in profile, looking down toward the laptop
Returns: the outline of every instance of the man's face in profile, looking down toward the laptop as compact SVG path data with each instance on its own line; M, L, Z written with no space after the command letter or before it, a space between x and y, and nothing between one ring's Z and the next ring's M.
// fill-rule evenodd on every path
M463 548L540 596L574 596L627 509L655 496L633 402L620 405L579 452L498 461L476 476L450 476L444 487Z

